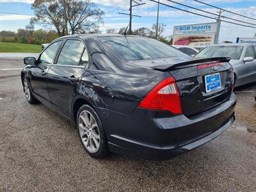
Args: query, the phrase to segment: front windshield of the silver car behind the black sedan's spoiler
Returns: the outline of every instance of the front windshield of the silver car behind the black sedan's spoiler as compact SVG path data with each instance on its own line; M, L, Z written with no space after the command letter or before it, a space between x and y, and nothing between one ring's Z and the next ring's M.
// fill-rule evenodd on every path
M239 60L243 52L243 46L212 46L206 47L196 54L195 58L230 57L232 60Z

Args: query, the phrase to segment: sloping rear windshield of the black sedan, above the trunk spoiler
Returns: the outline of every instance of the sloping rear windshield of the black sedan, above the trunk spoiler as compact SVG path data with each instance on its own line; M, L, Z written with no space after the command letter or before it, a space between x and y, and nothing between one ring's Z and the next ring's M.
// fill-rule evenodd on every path
M187 54L152 38L137 36L102 37L102 42L111 47L124 60L146 60L158 58L188 57Z

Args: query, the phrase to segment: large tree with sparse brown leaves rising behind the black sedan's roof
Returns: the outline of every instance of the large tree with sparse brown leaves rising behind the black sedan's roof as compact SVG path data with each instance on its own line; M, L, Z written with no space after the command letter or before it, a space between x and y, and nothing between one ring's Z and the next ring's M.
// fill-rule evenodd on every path
M35 0L32 9L35 17L31 19L31 24L54 26L59 36L68 33L66 18L72 34L89 33L99 28L104 15L90 0Z

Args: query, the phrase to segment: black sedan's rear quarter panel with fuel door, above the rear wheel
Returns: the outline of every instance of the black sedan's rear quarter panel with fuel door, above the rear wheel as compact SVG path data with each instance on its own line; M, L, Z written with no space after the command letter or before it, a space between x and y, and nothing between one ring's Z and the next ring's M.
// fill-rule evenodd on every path
M134 67L133 72L131 70L126 73L88 69L81 79L80 92L84 97L92 100L98 108L128 115L164 78L163 74L163 72L141 67Z

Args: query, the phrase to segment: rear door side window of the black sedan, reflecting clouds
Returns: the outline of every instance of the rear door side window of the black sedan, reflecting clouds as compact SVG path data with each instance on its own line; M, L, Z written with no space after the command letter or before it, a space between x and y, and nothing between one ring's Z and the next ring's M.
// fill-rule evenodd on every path
M80 40L67 40L61 49L58 65L79 65L84 44Z

